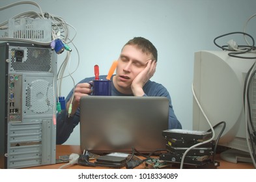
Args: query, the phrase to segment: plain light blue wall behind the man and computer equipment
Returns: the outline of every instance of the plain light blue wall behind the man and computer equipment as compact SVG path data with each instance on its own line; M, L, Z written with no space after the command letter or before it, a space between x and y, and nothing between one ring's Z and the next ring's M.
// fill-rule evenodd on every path
M0 1L0 6L18 1ZM170 92L175 113L184 129L192 129L193 54L200 50L218 50L214 38L228 32L243 31L244 24L256 13L255 0L44 0L35 1L43 12L61 16L74 26L80 64L74 73L78 83L93 75L93 66L107 74L122 45L134 36L148 38L158 49L158 66L153 81L162 83ZM28 10L20 5L0 11L0 22ZM71 36L74 31L70 29ZM251 19L247 32L256 38L256 19ZM1 33L1 32L0 32ZM244 45L241 36L230 39ZM74 49L74 47L72 47ZM58 57L61 65L64 55ZM78 54L72 51L70 70L76 68ZM72 88L72 80L64 79L62 94ZM65 144L79 144L79 127Z

